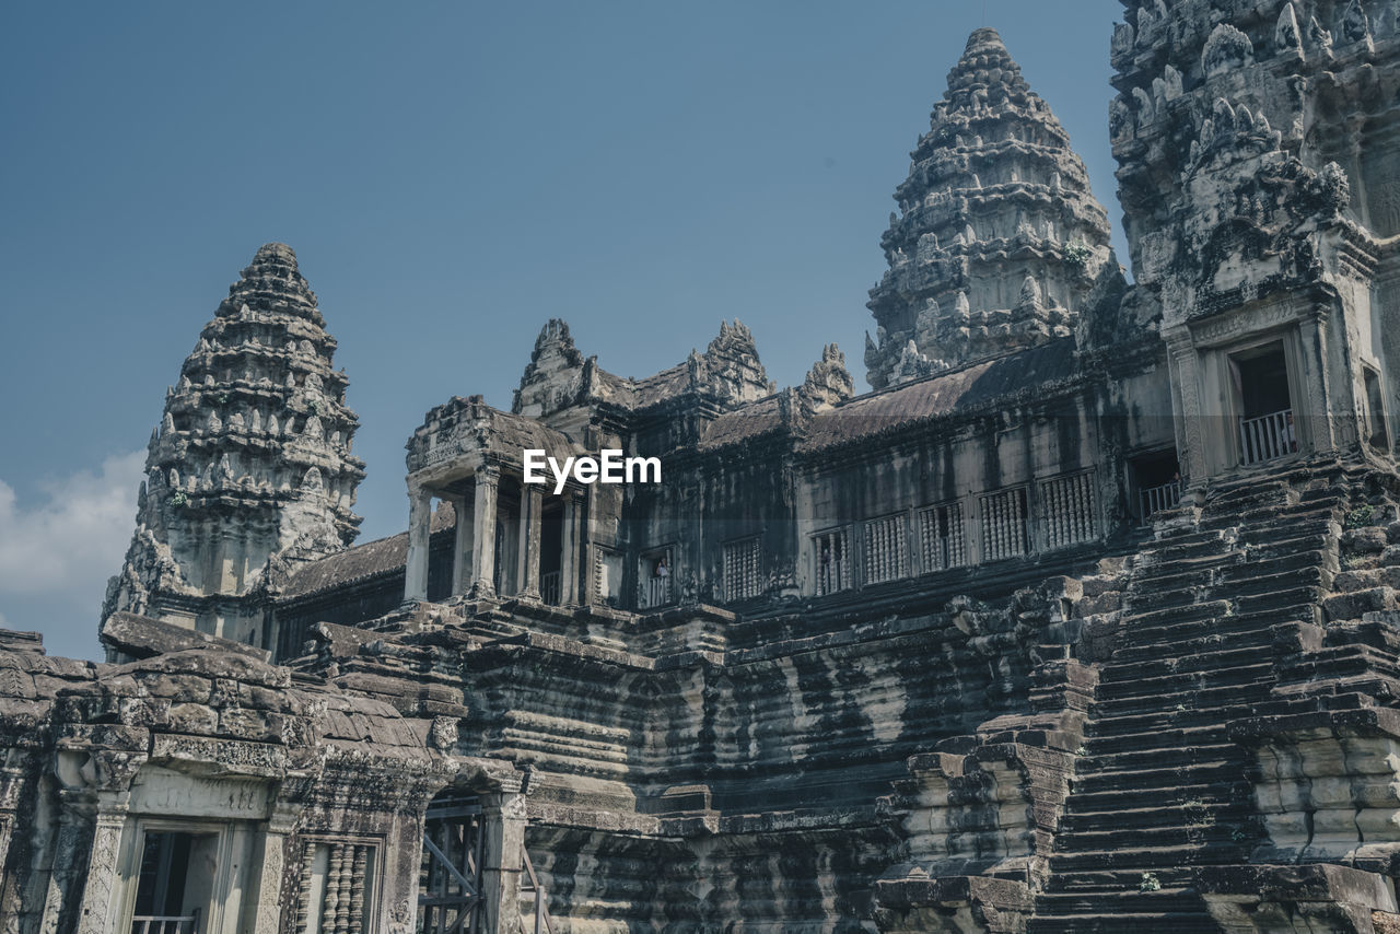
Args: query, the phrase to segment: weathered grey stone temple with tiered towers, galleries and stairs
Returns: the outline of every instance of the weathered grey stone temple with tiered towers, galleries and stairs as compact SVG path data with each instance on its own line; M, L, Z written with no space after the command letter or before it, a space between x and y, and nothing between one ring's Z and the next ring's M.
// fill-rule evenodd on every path
M1400 931L1400 3L1124 7L1131 283L977 29L871 391L738 321L626 379L549 319L508 412L412 428L386 539L259 249L106 661L0 630L0 931ZM526 482L603 449L664 482Z

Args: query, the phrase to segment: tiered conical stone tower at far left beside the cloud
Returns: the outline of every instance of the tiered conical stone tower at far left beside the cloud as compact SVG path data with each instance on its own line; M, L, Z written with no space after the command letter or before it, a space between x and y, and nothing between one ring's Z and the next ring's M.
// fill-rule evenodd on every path
M265 245L167 392L104 619L129 611L262 644L259 592L354 539L364 462L335 349L295 253Z

